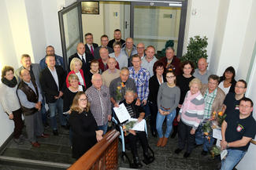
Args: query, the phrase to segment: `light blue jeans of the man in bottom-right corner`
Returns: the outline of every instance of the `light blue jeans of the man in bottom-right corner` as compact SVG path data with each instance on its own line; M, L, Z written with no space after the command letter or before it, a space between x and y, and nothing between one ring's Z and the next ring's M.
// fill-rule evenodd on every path
M244 150L228 149L227 157L221 161L221 170L232 170L245 154Z

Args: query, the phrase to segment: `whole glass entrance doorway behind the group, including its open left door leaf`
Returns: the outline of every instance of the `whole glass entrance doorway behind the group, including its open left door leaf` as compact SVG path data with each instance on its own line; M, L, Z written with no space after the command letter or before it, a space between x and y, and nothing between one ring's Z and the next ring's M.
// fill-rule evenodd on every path
M94 42L101 45L102 34L108 35L111 40L115 29L121 30L122 39L132 37L135 45L139 42L145 46L154 45L158 52L164 51L166 42L173 40L176 56L182 56L187 0L101 0L98 2L98 13L94 14L82 14L82 2L90 1L75 2L59 12L65 65L76 51L77 42L85 42L84 34L91 32Z

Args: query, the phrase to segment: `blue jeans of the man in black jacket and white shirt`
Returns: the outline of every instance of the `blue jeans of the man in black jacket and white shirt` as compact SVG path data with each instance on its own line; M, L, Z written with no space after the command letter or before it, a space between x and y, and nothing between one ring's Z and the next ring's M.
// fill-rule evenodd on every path
M61 98L57 99L57 101L54 103L48 103L48 107L49 107L49 113L50 113L51 128L53 128L54 130L57 129L57 121L55 118L56 109L58 110L58 117L60 119L61 125L67 124L67 121L65 120L63 115L63 100Z

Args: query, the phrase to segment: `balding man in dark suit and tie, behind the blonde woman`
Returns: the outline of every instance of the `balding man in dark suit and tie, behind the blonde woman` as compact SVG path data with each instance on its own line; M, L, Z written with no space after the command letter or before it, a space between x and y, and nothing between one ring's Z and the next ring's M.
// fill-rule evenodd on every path
M90 53L87 53L85 51L85 46L86 45L84 45L83 42L78 43L76 46L77 52L72 56L69 56L69 71L70 71L71 60L75 57L79 58L83 63L82 65L83 76L84 78L87 78L87 73L91 69L91 60L94 60L94 57Z

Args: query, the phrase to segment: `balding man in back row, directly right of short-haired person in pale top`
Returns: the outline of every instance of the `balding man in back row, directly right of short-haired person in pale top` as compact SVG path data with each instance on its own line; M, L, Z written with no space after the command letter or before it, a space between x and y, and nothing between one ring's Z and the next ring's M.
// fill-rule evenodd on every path
M132 60L132 56L134 56L135 54L138 53L135 45L133 45L132 38L126 38L125 44L122 45L121 52L124 52L124 54L127 56L128 62L129 62L129 60ZM128 63L128 67L132 67L132 65L130 65L130 63Z

